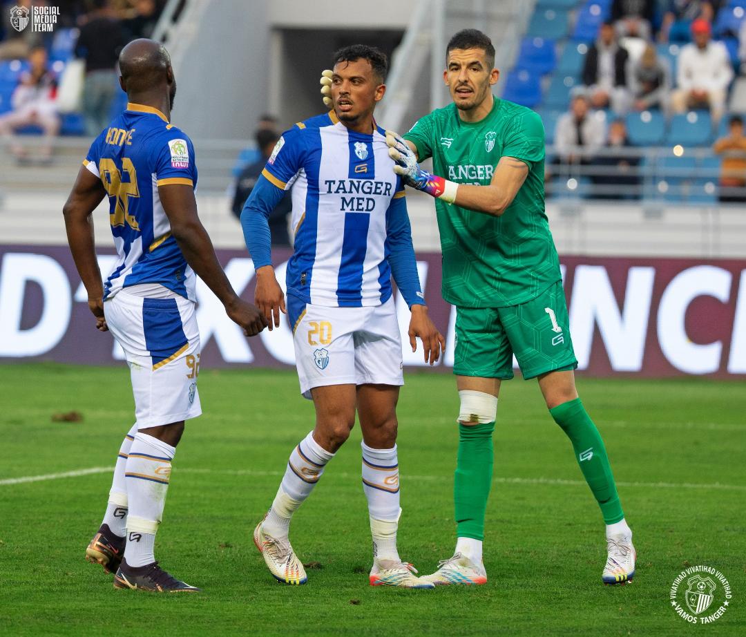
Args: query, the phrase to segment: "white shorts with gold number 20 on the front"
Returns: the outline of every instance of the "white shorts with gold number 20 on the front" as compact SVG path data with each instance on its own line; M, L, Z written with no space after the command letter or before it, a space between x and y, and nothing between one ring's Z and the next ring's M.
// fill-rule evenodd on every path
M289 298L301 394L325 385L404 385L393 298L374 307L325 307Z

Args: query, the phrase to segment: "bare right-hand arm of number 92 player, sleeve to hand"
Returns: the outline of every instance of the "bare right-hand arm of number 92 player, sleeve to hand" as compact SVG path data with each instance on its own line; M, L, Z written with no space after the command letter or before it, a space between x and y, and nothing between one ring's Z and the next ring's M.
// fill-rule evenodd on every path
M220 267L213 242L197 215L197 201L192 186L181 183L158 186L158 195L169 218L171 233L186 263L207 283L207 287L225 307L225 313L243 328L246 336L260 333L266 327L266 321L254 305L236 294Z

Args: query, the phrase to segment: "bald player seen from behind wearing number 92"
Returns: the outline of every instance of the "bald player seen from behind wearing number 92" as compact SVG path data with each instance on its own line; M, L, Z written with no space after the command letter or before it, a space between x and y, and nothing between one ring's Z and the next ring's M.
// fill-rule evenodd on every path
M236 295L197 216L194 147L169 123L176 93L169 54L153 40L134 40L122 49L119 67L127 110L91 145L63 210L96 326L110 330L125 351L137 417L86 556L116 573L115 588L198 591L154 557L175 448L184 421L201 414L195 274L246 336L266 321ZM119 258L104 285L91 215L107 195Z

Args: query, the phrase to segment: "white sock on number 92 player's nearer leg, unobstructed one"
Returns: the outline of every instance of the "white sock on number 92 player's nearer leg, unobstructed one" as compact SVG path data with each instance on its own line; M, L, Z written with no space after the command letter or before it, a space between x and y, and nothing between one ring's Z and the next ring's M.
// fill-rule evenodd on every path
M171 477L176 448L162 440L137 433L125 468L129 514L125 561L145 566L155 561L154 543Z

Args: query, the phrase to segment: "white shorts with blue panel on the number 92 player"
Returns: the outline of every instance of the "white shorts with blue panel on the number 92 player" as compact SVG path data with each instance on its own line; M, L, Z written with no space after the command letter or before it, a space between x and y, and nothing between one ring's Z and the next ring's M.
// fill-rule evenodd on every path
M200 415L195 304L181 296L142 298L120 290L104 301L104 315L130 366L137 427Z

